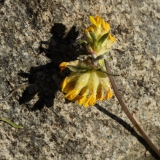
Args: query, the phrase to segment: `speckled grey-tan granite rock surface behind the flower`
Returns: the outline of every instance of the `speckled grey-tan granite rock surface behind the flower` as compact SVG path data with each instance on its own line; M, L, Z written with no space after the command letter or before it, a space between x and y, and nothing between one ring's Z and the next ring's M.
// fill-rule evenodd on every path
M90 15L110 23L117 86L160 149L159 0L2 0L0 116L24 128L0 122L1 160L156 159L116 97L88 109L64 99L59 86L69 71L58 65L76 59Z

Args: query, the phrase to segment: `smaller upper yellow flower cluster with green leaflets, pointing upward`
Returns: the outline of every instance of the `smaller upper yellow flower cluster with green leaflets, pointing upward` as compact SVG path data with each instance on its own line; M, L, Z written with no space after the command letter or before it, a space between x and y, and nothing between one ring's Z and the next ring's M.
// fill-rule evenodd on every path
M85 29L86 48L95 58L108 52L116 39L111 35L110 25L104 19L90 16L90 22L93 25Z

